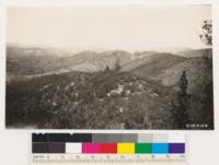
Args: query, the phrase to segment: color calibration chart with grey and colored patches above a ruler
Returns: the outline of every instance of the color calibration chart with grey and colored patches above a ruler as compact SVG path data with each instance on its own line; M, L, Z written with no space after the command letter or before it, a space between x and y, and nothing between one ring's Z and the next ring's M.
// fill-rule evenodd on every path
M33 133L32 164L185 163L185 133Z

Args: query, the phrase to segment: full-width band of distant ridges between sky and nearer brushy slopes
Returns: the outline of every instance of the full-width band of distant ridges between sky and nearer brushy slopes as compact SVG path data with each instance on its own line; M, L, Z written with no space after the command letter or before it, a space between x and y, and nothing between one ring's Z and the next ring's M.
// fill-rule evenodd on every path
M165 70L186 58L201 57L206 51L211 51L211 49L186 49L187 51L185 48L182 49L184 51L177 54L157 51L130 54L118 49L103 52L87 50L70 55L51 48L8 46L7 72L11 78L14 78L13 74L37 76L69 71L96 72L105 70L106 67L114 69L118 62L122 71L141 72L140 74L145 76L150 72Z

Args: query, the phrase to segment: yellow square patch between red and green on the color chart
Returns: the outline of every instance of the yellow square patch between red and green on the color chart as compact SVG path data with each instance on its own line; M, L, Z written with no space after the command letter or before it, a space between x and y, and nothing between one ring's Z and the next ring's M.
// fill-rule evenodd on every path
M135 153L135 143L117 143L118 154L132 154Z

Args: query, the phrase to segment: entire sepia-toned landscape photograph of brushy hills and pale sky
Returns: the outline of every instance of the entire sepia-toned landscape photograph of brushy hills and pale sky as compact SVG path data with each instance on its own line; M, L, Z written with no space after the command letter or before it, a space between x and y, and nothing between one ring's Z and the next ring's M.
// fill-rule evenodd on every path
M5 128L214 130L211 5L9 5L5 21Z

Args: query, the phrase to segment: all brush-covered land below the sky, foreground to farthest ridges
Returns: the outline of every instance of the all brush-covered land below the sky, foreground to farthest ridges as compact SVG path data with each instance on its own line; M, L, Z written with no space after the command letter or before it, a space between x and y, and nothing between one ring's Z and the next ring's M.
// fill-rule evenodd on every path
M211 49L7 54L9 128L212 129Z

